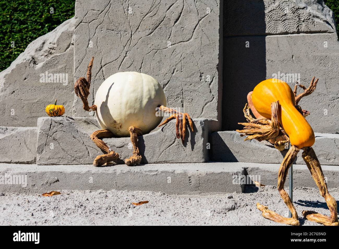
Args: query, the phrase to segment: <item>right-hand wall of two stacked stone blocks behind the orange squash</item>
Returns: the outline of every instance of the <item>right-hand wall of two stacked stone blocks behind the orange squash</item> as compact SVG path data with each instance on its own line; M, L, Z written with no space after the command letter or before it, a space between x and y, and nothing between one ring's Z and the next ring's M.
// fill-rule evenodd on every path
M226 2L223 130L241 128L246 96L259 82L279 78L293 89L296 81L308 86L315 76L317 89L300 106L311 112L307 121L315 132L339 133L339 44L332 11L321 0Z

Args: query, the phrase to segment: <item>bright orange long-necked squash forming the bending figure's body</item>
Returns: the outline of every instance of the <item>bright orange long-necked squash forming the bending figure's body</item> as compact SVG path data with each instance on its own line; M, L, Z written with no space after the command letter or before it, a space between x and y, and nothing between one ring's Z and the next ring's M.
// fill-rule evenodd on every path
M298 149L314 144L314 132L310 124L295 108L295 97L291 87L278 79L260 82L253 90L252 102L259 114L271 119L271 103L279 101L281 115L279 123L285 130L292 145Z

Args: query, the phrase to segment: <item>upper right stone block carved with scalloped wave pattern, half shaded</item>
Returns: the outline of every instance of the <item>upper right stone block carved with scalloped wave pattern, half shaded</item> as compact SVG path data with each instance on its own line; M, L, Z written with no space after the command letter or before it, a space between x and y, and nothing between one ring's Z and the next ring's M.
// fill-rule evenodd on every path
M224 36L335 33L336 26L322 0L227 0L224 18Z

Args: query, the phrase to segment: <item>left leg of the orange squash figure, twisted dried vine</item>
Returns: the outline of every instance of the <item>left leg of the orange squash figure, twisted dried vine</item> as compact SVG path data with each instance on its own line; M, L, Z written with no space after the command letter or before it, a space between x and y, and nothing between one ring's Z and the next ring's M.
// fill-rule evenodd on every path
M284 160L282 161L282 163L280 165L280 169L279 169L279 173L278 173L278 190L279 190L280 196L283 199L284 203L287 205L288 209L290 209L290 211L292 213L292 218L283 217L283 216L277 214L276 212L269 210L266 206L263 206L263 205L260 205L259 203L257 203L257 208L260 211L262 211L262 216L264 216L268 220L287 224L287 225L294 225L294 226L300 225L299 221L298 221L297 211L296 211L295 207L293 206L293 203L291 201L290 196L288 196L288 194L284 190L284 184L285 184L285 180L286 180L286 177L287 177L288 169L291 167L291 164L293 163L298 152L299 152L299 149L295 146L292 146L288 150Z

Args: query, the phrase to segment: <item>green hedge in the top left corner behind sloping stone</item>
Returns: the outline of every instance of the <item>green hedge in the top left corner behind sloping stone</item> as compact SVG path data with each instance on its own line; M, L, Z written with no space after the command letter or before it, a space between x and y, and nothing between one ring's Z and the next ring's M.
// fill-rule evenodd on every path
M0 71L29 43L72 18L74 5L75 0L0 0Z

